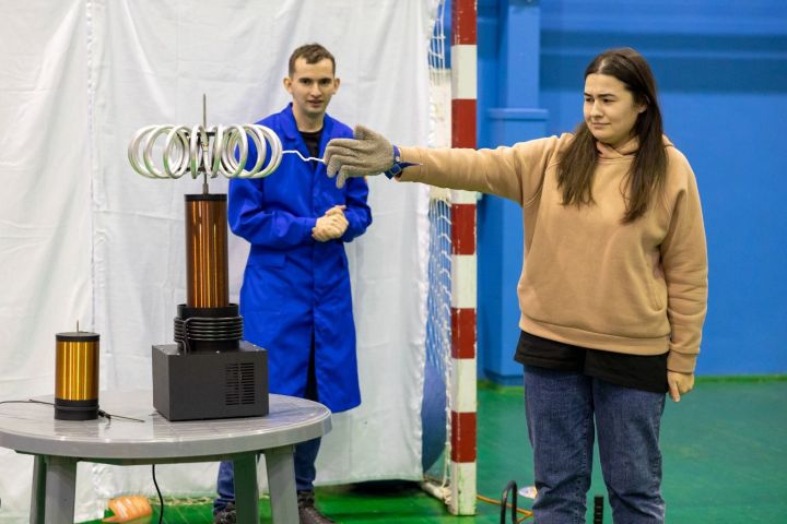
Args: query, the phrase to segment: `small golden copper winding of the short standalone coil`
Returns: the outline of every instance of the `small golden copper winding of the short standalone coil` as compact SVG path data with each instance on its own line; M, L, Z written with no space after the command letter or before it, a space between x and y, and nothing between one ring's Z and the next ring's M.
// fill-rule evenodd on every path
M55 340L55 398L97 401L98 334L57 333Z

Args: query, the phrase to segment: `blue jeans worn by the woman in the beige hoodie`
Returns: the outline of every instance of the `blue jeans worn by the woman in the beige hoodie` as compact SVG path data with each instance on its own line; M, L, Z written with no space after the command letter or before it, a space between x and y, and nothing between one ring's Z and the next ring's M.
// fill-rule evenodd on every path
M615 524L665 520L659 428L666 395L525 367L538 524L585 523L595 434Z

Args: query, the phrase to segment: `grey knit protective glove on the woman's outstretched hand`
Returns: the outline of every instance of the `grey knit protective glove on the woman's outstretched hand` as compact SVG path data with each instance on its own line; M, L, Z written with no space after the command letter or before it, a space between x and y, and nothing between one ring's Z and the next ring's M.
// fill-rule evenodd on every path
M322 159L328 176L337 178L343 188L350 177L379 175L393 166L393 146L381 134L363 126L355 126L354 139L333 139L328 142Z

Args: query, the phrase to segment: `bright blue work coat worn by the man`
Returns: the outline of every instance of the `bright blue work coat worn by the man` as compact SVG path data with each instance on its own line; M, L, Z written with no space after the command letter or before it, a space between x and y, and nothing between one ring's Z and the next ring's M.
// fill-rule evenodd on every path
M292 104L258 123L272 129L283 148L309 152ZM325 116L319 153L334 138L352 138L345 124ZM257 160L249 144L247 166ZM268 160L266 160L267 163ZM230 227L251 245L240 289L244 338L268 350L270 391L303 397L314 341L317 397L332 412L361 403L350 274L344 242L372 223L363 178L342 189L322 163L285 154L272 175L230 182ZM317 218L345 205L349 226L340 239L312 238Z

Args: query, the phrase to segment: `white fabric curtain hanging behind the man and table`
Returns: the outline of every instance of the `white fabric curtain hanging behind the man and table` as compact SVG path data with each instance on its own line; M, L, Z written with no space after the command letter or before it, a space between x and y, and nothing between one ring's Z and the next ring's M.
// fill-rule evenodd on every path
M278 111L290 52L318 41L342 81L332 116L426 144L435 3L0 0L0 400L54 393L55 334L78 321L101 334L102 390L151 386L151 345L173 341L186 298L183 195L200 183L134 174L137 129L200 122L203 94L209 124ZM426 191L369 186L374 223L346 246L363 403L333 417L318 484L421 476ZM234 301L247 251L232 238ZM27 521L32 471L0 450L0 522ZM215 472L167 465L157 478L167 496L212 495ZM78 521L155 492L149 466L89 463L77 489Z

